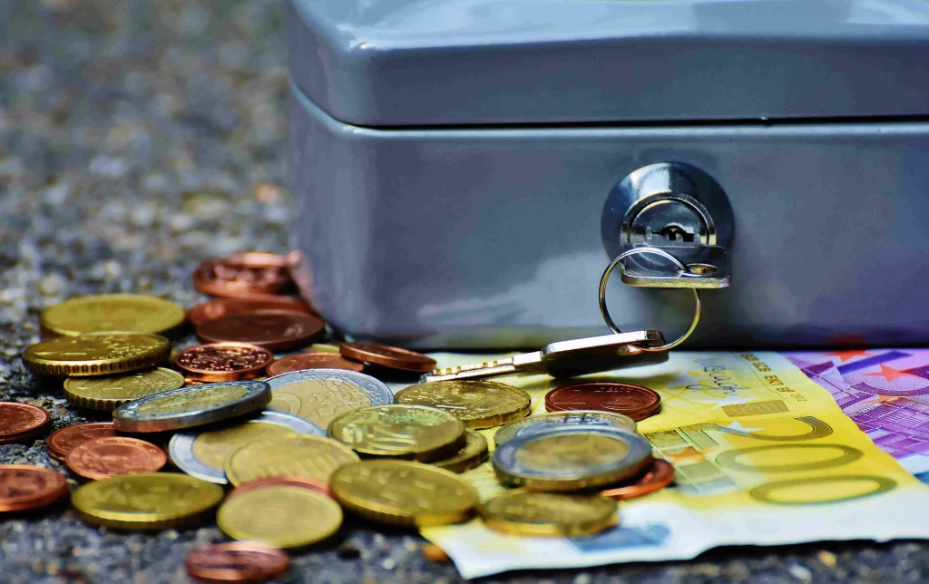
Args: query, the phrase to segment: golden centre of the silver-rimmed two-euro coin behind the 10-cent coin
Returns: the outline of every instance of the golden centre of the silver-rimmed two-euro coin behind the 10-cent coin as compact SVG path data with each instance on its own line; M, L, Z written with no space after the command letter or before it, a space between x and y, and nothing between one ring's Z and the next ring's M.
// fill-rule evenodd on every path
M339 379L320 379L287 383L272 390L268 408L326 428L341 414L370 405L371 397L358 385Z

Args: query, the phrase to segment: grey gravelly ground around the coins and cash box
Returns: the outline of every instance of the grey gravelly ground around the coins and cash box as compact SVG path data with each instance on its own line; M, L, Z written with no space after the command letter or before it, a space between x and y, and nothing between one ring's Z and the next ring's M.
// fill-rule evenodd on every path
M278 0L0 0L0 397L85 422L20 353L75 294L200 296L205 255L287 249L288 95ZM190 342L188 337L186 342ZM0 463L64 471L43 440ZM72 486L76 483L72 481ZM216 526L121 534L67 509L0 522L3 582L184 582ZM450 582L414 533L347 525L292 582ZM922 543L734 548L689 563L522 573L507 582L925 582Z

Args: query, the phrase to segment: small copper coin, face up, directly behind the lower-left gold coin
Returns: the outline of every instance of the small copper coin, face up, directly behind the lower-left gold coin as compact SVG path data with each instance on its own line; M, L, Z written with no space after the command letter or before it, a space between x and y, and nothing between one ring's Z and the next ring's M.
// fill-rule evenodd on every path
M125 436L88 440L72 448L64 460L72 473L95 481L118 474L157 473L167 461L162 448Z

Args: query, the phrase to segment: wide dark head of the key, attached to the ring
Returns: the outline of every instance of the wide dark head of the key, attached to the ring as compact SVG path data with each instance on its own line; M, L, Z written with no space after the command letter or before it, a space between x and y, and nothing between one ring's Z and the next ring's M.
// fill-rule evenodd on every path
M600 371L655 365L668 360L668 352L637 351L635 345L655 347L664 344L661 331L633 331L605 334L546 344L542 348L542 367L552 377L573 377Z

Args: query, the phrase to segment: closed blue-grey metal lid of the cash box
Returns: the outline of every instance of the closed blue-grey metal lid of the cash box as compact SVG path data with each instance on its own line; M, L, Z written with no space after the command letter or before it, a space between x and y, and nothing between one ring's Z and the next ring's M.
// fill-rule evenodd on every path
M369 126L929 113L918 0L293 0L296 86Z

